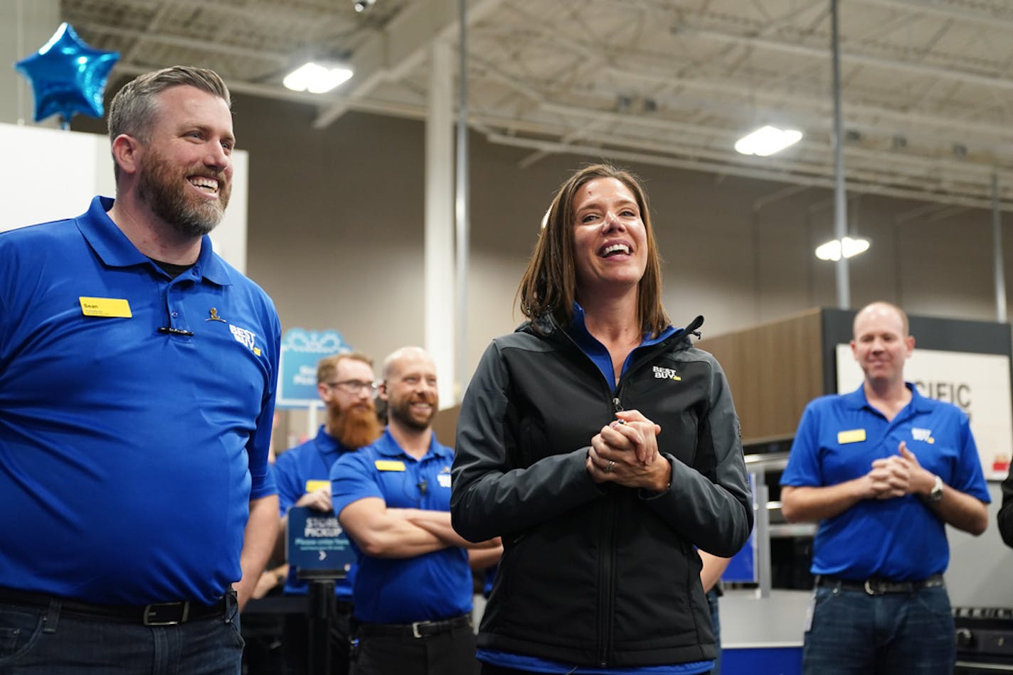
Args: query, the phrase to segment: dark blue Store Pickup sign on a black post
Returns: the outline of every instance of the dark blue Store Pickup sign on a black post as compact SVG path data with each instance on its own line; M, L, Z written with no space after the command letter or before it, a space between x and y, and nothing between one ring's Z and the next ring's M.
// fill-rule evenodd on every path
M286 544L289 564L300 571L339 570L346 574L356 562L356 552L337 516L305 506L289 510Z

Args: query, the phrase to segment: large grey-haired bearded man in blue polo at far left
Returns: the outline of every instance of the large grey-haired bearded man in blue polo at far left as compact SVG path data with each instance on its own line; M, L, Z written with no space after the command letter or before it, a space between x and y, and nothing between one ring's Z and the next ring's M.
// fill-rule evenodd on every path
M278 530L281 331L207 236L229 92L148 73L108 125L115 200L0 234L0 672L237 674Z

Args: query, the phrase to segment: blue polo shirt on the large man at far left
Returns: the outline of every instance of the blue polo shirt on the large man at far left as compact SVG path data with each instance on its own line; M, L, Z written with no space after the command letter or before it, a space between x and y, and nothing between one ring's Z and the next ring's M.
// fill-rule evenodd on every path
M111 205L0 233L0 587L212 602L276 492L278 315L208 237L170 278Z

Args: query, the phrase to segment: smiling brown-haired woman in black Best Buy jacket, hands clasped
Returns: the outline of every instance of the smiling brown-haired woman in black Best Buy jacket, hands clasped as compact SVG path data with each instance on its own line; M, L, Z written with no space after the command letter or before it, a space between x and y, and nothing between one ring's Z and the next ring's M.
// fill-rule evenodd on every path
M493 340L458 420L451 513L503 557L483 674L708 672L696 549L753 525L717 361L675 329L640 183L607 165L560 187L521 282L529 321Z

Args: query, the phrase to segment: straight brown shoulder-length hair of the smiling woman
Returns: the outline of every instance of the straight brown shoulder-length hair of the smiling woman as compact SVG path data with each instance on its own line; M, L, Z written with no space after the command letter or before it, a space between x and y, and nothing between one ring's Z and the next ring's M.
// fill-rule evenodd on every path
M647 193L639 178L611 164L593 164L580 169L559 187L552 198L545 227L517 290L521 313L532 321L536 330L537 320L545 315L552 315L563 327L573 320L573 301L576 298L573 197L585 183L597 178L615 178L628 187L636 198L647 236L647 266L637 285L637 319L643 331L655 337L668 328L669 317L661 306L661 259L654 241L654 228L650 224Z

